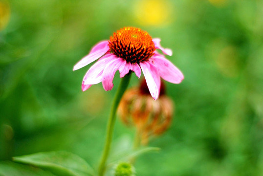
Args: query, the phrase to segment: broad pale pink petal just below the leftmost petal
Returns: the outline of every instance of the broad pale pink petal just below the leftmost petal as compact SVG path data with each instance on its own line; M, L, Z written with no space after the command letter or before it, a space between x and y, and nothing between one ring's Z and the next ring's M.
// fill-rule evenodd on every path
M93 85L102 82L104 68L110 63L113 54L108 53L91 66L83 78L82 84Z

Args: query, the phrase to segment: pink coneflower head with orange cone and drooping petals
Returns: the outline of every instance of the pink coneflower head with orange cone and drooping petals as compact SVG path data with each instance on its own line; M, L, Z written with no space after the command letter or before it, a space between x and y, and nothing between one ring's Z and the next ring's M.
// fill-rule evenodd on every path
M91 85L102 82L103 88L108 91L113 88L113 77L119 70L120 77L124 77L132 70L139 78L141 70L145 76L147 86L154 100L160 93L160 77L178 84L184 76L163 54L172 56L172 50L163 48L160 39L152 37L145 31L135 27L124 27L113 33L110 41L96 44L89 54L80 60L73 68L77 70L99 59L91 66L83 78L82 90Z

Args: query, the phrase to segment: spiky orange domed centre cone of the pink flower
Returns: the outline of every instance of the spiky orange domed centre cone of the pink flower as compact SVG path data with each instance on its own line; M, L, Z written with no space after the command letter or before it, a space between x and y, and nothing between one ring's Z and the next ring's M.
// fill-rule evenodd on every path
M124 27L114 32L109 46L111 52L130 63L147 61L155 50L152 37L136 27Z

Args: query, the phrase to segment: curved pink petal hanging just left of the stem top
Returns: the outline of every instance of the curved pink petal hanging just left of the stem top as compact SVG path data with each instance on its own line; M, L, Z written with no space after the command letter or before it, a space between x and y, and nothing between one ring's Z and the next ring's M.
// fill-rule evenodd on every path
M103 71L103 80L102 80L102 86L103 88L108 91L113 88L113 78L115 75L115 72L119 69L119 67L123 64L123 59L117 58L115 55L111 57L111 62L105 67Z

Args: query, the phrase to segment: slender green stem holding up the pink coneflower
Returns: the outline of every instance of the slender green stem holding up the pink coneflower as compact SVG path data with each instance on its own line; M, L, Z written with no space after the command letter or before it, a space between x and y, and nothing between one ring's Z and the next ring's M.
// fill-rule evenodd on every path
M112 140L112 134L113 134L113 129L114 129L114 124L116 121L116 111L119 106L120 100L122 98L122 95L124 94L126 88L129 85L130 79L131 79L131 73L128 73L125 75L120 82L119 88L117 89L116 95L114 97L114 101L111 107L110 111L110 118L108 120L107 124L107 133L106 133L106 142L104 146L104 151L102 154L102 158L99 164L99 176L103 176L105 173L106 169L106 161L110 152L110 144Z

